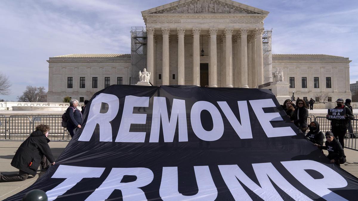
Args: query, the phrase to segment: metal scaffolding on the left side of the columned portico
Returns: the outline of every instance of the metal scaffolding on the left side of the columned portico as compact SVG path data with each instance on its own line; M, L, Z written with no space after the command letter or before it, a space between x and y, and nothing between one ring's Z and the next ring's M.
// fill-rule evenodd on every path
M138 72L147 67L147 33L145 27L133 26L131 29L131 81L139 82Z

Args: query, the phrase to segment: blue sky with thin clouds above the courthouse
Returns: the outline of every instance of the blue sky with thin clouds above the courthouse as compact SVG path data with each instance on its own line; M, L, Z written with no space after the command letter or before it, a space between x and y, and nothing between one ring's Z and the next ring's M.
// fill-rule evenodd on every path
M130 53L131 26L141 11L172 0L1 0L0 71L16 101L26 85L48 88L49 57L72 53ZM358 1L242 0L270 12L275 54L349 57L350 83L358 80Z

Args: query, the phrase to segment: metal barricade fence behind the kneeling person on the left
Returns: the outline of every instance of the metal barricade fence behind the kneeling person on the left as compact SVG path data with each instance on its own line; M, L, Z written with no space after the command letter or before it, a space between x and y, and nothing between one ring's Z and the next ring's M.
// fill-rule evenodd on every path
M61 125L61 115L9 116L0 115L0 140L24 141L39 124L50 126L51 141L69 141L71 136Z

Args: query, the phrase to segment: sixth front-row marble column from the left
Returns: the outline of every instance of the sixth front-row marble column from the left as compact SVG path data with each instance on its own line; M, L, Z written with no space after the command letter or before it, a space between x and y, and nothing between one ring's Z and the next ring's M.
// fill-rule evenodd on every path
M225 33L225 62L226 62L226 84L225 87L233 87L232 85L232 28L226 28Z

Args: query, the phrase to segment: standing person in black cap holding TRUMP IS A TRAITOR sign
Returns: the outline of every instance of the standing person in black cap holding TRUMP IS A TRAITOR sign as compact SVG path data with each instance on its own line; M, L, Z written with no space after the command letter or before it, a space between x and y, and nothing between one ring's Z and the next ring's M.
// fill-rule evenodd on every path
M331 131L335 138L338 138L342 148L344 148L344 136L347 133L349 121L354 119L352 111L343 104L343 99L338 98L337 107L334 109L345 109L345 119L330 119L327 114L327 119L331 120Z

